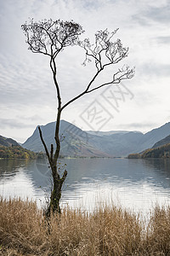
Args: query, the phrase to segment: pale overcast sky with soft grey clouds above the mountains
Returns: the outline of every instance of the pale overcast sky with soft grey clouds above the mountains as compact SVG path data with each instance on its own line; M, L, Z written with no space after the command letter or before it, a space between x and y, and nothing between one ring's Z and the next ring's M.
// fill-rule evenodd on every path
M170 121L168 0L0 0L0 135L23 143L37 125L56 118L48 58L27 49L20 29L29 18L74 20L85 30L82 38L92 42L98 30L119 28L114 40L120 38L129 47L120 65L136 67L133 79L83 96L65 108L62 119L83 130L142 132ZM64 103L85 89L95 72L92 63L83 67L83 61L84 53L77 47L59 56ZM110 75L106 72L102 79L107 81ZM98 119L89 114L94 109Z

